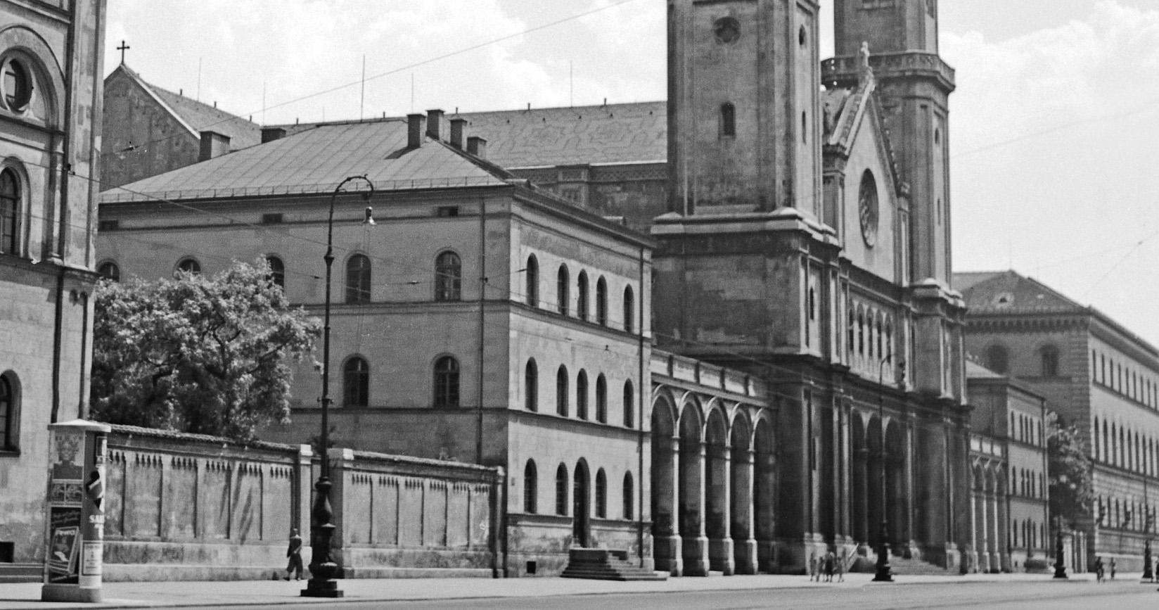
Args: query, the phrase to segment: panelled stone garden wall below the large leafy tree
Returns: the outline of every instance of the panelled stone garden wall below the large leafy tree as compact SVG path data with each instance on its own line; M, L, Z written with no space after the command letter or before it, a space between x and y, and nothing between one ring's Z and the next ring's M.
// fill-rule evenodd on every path
M501 469L330 451L347 578L495 574ZM290 529L308 540L318 462L308 445L114 427L104 579L282 574Z

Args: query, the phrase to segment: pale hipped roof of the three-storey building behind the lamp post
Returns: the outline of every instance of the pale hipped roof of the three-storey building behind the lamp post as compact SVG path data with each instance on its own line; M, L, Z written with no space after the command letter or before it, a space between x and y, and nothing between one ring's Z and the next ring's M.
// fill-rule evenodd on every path
M101 194L101 203L329 193L365 174L378 190L498 186L509 173L425 139L407 148L407 123L330 123Z

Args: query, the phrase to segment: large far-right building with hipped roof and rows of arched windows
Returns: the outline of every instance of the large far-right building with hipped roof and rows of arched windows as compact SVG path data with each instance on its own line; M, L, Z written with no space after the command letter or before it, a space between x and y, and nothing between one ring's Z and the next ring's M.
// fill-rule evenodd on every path
M967 347L1078 427L1094 462L1087 565L1143 569L1159 506L1159 350L1099 310L1015 271L956 274Z

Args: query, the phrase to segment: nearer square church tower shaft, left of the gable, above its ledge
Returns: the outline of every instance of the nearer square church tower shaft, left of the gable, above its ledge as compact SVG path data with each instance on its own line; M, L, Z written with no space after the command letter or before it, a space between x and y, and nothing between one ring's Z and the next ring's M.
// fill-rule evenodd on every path
M819 216L815 0L669 0L670 211Z

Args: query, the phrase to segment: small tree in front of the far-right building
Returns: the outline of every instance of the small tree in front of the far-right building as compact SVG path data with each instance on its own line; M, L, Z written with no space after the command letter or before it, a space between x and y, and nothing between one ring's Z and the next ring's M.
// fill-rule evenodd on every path
M1078 428L1057 413L1047 414L1047 427L1050 514L1071 523L1091 515L1094 502L1091 457Z

